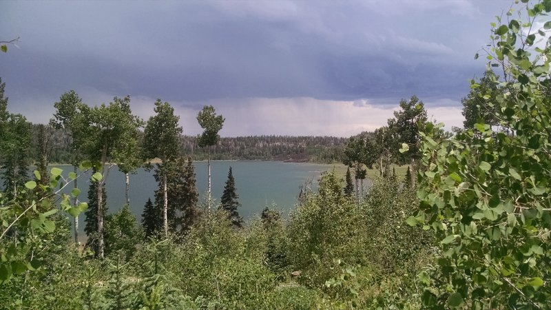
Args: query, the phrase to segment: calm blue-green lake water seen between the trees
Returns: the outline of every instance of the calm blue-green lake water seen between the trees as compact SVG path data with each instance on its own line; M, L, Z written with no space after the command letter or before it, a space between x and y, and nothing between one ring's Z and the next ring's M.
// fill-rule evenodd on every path
M194 166L201 203L205 200L207 192L207 162L194 162ZM317 189L321 173L333 167L275 161L211 161L212 198L215 199L215 203L220 201L230 166L233 178L236 179L236 192L241 203L238 211L245 220L259 215L264 207L273 205L287 213L296 203L300 185L306 180L312 180L313 189ZM60 167L63 169L63 175L72 171L71 166ZM90 176L86 176L78 180L81 201L87 202L89 179ZM114 213L125 203L125 176L116 167L113 167L107 176L106 188L107 207L110 213ZM137 174L130 175L130 209L136 214L138 221L141 220L147 198L154 201L154 191L157 188L158 184L155 182L153 172L139 169ZM83 227L83 217L79 216L80 227Z

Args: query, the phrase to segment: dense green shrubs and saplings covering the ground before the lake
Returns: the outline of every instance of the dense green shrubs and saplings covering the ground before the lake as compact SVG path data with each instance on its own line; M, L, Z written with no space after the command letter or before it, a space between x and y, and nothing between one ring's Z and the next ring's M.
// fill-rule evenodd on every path
M123 208L106 219L105 260L68 238L44 241L42 267L1 285L0 308L418 307L419 298L397 296L420 296L402 290L416 287L410 270L424 260L430 238L422 229L395 227L415 196L382 179L358 207L342 194L344 183L334 174L320 184L320 192L306 196L288 223L267 209L261 220L236 229L225 212L211 212L184 236L163 240L146 239ZM377 193L400 194L377 207L386 197ZM375 219L371 212L382 209L389 216ZM69 234L67 228L57 231ZM395 249L380 251L373 242ZM389 268L388 260L399 263Z

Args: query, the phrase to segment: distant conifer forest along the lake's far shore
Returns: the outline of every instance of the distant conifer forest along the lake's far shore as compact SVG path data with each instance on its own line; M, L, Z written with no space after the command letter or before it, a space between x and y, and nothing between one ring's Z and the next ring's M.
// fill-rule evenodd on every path
M51 163L71 162L72 138L65 129L52 130ZM39 124L32 125L30 158L39 158ZM182 136L183 154L196 161L207 160L208 149L198 147L197 136ZM335 136L237 136L220 138L211 147L214 160L290 161L311 163L340 163L344 158L347 138Z

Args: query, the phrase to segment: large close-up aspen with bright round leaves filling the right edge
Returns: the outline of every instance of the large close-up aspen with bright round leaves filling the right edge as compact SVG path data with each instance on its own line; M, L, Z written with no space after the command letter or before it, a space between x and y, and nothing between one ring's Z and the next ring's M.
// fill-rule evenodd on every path
M549 307L551 1L521 2L492 23L501 129L475 123L441 139L429 123L422 134L421 203L408 223L439 239L424 307Z

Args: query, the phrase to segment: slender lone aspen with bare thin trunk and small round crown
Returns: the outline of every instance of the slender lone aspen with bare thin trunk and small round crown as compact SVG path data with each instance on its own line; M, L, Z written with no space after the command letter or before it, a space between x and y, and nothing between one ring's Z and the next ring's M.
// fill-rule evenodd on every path
M218 132L222 130L222 126L224 125L225 118L223 118L221 115L216 115L216 112L214 112L214 107L212 105L205 105L202 107L202 110L200 110L199 114L197 114L197 121L199 122L199 125L204 130L198 138L198 145L199 147L208 147L209 149L209 157L207 161L207 167L209 169L209 185L208 185L208 203L209 203L209 209L211 207L211 146L216 145L218 143L218 140L220 139L220 136L218 135Z

